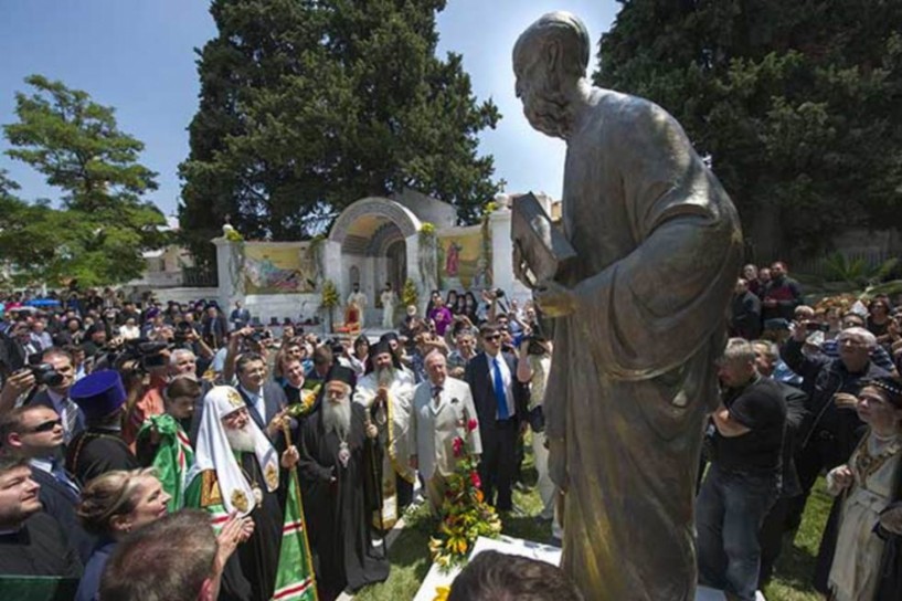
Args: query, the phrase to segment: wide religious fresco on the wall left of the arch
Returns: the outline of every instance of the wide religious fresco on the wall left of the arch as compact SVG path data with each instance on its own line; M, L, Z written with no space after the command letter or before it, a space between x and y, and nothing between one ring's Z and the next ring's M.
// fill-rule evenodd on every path
M310 293L316 287L316 265L298 245L245 244L245 294Z

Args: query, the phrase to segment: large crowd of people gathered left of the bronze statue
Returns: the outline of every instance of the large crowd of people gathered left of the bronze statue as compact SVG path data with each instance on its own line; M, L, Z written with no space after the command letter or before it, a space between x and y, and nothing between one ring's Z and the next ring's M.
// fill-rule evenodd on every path
M287 323L270 333L241 304L4 297L2 581L45 577L22 586L56 582L68 591L56 598L79 601L268 600L310 587L336 599L388 578L385 536L408 506L441 510L454 440L474 422L486 498L522 513L512 489L530 426L537 457L544 450L551 342L533 307L500 291L478 309L466 298L435 292L424 317L411 306L397 329L350 339ZM538 519L560 531L537 463ZM296 502L303 526L289 518ZM307 560L286 576L295 528ZM191 560L158 562L173 533Z

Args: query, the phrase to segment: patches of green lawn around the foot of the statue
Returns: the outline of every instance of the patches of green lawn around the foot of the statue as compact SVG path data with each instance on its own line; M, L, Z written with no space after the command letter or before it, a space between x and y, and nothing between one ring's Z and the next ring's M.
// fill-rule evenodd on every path
M529 447L528 447L529 450ZM524 479L532 486L529 493L514 492L514 504L524 509L523 517L507 517L503 521L503 534L548 542L551 537L550 526L540 527L533 516L539 514L541 500L535 492L535 470L532 466L532 455L527 453L524 462ZM830 513L831 499L824 492L823 481L818 483L808 500L805 519L802 523L796 540L786 545L777 563L773 582L765 590L767 601L823 601L811 584L817 546L820 533ZM354 599L362 601L408 601L420 589L420 582L429 570L429 535L436 521L429 517L428 509L423 506L408 510L405 516L406 527L395 539L389 550L392 571L389 580L360 591Z

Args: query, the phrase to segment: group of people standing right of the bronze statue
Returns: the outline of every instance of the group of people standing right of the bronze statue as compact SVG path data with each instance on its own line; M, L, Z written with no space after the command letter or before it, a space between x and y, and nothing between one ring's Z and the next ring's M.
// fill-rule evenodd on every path
M885 295L809 306L785 263L746 265L729 329L697 499L700 581L755 599L826 476L815 588L902 598L902 307Z

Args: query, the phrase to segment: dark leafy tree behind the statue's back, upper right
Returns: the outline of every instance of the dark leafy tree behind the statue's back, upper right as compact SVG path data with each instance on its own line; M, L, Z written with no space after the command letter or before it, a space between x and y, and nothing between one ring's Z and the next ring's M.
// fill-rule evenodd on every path
M902 224L902 3L622 3L596 83L680 120L764 254Z

